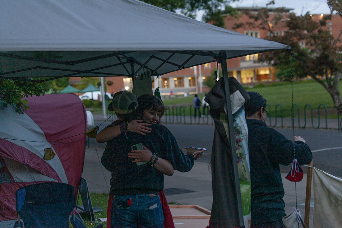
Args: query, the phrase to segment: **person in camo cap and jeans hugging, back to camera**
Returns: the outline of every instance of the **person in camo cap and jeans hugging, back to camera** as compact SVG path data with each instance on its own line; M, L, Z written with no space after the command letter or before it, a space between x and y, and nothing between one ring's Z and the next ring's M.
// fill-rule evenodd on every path
M151 124L152 131L145 136L142 132L132 132L127 123L141 116L137 107L138 102L132 93L120 91L114 94L108 110L115 111L119 121L113 122L96 137L97 141L110 138L101 162L112 172L111 227L163 227L158 196L163 189L163 174L171 176L174 169L187 172L200 157L197 154L184 155L171 132L162 125ZM143 150L131 150L137 143L143 144ZM138 166L137 162L147 163Z

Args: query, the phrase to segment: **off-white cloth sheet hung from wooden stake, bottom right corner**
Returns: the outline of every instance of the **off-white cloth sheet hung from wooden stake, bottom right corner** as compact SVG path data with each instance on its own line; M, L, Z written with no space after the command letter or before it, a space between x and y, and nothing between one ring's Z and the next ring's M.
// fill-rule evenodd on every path
M313 167L314 227L341 227L342 179Z

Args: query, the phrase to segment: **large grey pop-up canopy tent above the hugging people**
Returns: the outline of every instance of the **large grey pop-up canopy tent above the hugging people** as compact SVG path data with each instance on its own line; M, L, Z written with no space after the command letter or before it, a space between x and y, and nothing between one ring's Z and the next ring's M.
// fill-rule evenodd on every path
M291 49L137 0L1 1L0 21L0 77L8 79L129 76L134 83L136 75L147 69L151 76L159 76L219 61L229 96L226 59ZM232 125L230 105L226 99ZM229 137L234 141L233 131ZM236 156L235 149L232 151ZM237 170L232 172L237 177ZM232 183L223 178L219 182L216 187L239 188L238 180ZM213 198L220 199L216 190ZM221 206L212 213L214 227L244 225L238 199L231 197L228 204L238 208L236 214L227 218L229 225L221 224L220 217L227 214Z

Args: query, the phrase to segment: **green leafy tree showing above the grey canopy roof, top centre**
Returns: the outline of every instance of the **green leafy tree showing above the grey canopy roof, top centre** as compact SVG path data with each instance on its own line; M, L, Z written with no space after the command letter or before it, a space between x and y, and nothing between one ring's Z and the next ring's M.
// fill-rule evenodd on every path
M223 27L223 17L227 14L234 14L236 11L229 5L229 2L238 0L142 0L171 12L195 18L197 11L204 11L202 21L211 22L213 25Z

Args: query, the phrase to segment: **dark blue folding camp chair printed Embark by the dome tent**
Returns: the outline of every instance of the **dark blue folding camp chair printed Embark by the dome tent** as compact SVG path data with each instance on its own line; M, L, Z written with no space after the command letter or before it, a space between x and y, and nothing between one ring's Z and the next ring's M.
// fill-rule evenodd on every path
M68 219L74 206L74 187L66 183L44 182L16 191L16 210L27 228L69 228Z

